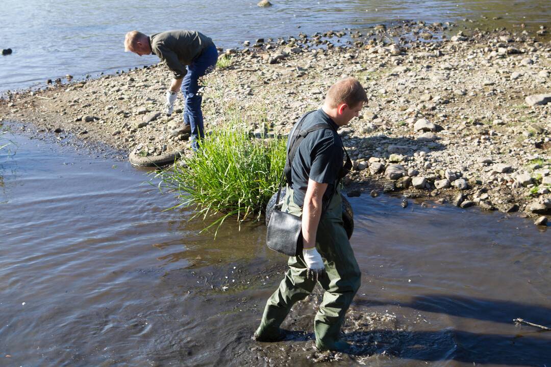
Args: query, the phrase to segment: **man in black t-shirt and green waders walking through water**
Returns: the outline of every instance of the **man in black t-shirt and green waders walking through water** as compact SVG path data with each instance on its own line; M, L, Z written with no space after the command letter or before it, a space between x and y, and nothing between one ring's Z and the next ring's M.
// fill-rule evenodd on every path
M327 124L327 128L310 132L300 142L291 162L292 183L282 207L285 212L302 215L304 249L299 256L289 258L289 271L268 299L254 335L257 341L282 340L285 332L280 325L291 307L319 282L325 294L314 320L316 348L349 351L349 344L340 337L341 325L360 287L360 269L343 227L341 195L336 188L343 167L337 129L358 116L367 101L359 81L346 78L333 84L323 106L302 122L301 130Z

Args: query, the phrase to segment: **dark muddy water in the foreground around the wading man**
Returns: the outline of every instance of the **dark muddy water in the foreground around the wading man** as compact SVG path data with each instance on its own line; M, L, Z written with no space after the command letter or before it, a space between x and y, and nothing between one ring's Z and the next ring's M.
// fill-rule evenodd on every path
M320 292L287 341L249 337L285 259L265 227L201 234L126 162L24 136L0 154L0 365L551 365L551 232L476 209L362 195L352 355L317 353ZM81 150L82 151L82 150Z

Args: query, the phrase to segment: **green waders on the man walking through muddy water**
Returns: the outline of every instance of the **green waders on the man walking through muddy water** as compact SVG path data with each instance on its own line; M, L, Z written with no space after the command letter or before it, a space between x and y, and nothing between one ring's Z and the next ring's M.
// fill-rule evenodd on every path
M323 213L316 234L316 249L327 271L327 276L320 280L325 293L314 319L316 347L320 349L335 349L339 344L344 315L360 287L360 269L343 227L341 205L341 194L337 192ZM302 213L293 202L293 190L289 187L282 210L294 215ZM277 337L279 326L291 307L312 293L316 286L316 282L306 278L302 254L290 257L288 264L290 269L277 291L268 299L256 331L256 335L262 338Z

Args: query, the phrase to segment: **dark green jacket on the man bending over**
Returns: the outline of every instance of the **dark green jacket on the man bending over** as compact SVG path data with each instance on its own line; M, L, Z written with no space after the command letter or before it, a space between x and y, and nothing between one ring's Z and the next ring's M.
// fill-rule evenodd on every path
M174 79L182 79L186 65L190 65L207 47L214 46L209 37L197 31L174 30L155 33L149 36L151 50L174 74Z

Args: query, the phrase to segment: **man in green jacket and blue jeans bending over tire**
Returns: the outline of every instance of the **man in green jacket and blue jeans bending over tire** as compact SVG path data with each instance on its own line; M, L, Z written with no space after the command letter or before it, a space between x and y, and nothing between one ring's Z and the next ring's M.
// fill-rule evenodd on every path
M131 31L125 36L125 51L139 56L154 53L172 72L172 83L166 91L165 112L168 116L172 114L177 91L181 89L185 100L184 128L191 130L192 149L197 150L199 139L204 138L198 80L212 71L218 60L218 51L212 40L197 31L174 30L150 36Z

